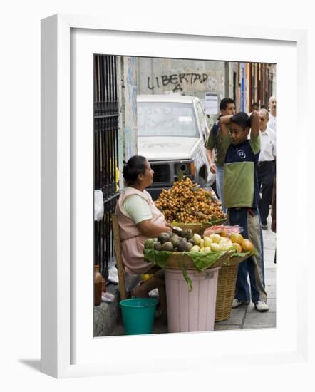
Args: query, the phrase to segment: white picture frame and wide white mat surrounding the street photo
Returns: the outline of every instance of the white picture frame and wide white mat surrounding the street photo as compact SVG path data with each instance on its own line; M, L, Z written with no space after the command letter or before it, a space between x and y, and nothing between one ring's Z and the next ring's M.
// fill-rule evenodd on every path
M306 237L289 247L287 239L292 229L306 225L308 205L306 174L301 175L306 155L294 150L298 164L291 165L296 126L306 128L301 99L306 96L306 31L253 26L200 26L189 34L185 29L137 31L68 15L43 19L41 29L41 371L57 378L152 372L152 361L143 356L148 346L154 371L160 372L205 371L244 360L262 365L305 361L307 265L297 264L293 254L306 249ZM277 64L276 328L94 336L95 55ZM222 97L215 96L211 83L207 88L207 110L214 115ZM137 153L133 143L125 148L128 156ZM299 202L288 214L295 198Z

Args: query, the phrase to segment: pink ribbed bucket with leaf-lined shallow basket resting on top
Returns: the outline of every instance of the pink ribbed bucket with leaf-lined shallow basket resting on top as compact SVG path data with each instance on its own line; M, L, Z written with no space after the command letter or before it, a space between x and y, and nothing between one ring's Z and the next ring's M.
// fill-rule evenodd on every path
M218 274L232 253L201 256L192 252L145 250L151 262L155 260L165 269L169 332L213 331Z

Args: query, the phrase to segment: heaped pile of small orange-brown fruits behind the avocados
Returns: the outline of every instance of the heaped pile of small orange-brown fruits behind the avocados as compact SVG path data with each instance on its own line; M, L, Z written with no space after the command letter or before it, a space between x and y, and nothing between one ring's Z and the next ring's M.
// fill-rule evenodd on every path
M227 220L215 192L203 189L190 178L174 182L169 190L163 189L155 205L167 222L197 234Z

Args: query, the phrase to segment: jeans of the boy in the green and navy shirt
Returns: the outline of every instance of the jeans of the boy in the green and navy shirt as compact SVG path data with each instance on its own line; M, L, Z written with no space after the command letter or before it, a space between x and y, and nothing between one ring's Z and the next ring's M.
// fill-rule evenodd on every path
M239 264L235 298L241 302L248 302L252 294L254 304L257 304L257 301L266 301L267 292L264 289L264 248L259 210L258 208L229 208L228 216L229 224L241 226L244 230L242 236L248 238L258 252L257 256L251 256ZM250 292L247 275L249 275Z

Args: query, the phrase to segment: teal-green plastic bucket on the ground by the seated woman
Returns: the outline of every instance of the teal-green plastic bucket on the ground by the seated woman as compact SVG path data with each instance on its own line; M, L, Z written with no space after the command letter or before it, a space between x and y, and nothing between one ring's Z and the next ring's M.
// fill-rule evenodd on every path
M120 301L126 335L152 334L158 299L132 298Z

